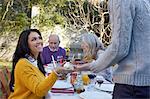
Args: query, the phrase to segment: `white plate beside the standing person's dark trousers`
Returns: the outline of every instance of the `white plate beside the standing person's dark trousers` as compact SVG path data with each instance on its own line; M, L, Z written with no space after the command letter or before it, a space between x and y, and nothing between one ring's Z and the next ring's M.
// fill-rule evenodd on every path
M100 86L98 84L95 85L96 89L104 90L104 91L110 91L112 92L114 89L114 84L101 84Z

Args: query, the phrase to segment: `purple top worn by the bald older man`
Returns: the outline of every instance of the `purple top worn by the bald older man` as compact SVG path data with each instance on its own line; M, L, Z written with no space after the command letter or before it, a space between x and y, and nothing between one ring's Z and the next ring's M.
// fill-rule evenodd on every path
M52 62L52 55L54 56L55 61L59 61L60 59L66 59L66 51L65 49L59 47L58 51L52 52L49 47L46 46L43 48L42 52L42 63L43 65L49 64Z

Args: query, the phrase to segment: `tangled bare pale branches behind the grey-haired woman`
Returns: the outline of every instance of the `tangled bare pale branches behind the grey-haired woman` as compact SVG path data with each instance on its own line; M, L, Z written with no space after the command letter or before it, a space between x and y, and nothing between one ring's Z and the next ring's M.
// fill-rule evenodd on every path
M110 44L108 0L70 0L59 12L66 19L66 29L72 32L94 32L105 46Z

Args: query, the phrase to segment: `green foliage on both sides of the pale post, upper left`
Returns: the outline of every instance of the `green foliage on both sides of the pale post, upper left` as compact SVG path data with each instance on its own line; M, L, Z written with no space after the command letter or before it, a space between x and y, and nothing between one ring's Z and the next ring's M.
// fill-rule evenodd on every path
M17 37L20 31L30 28L31 22L39 28L53 27L55 24L64 25L64 18L59 14L58 8L64 6L66 1L14 0L13 5L11 0L3 2L0 6L0 35L16 34ZM32 20L31 8L35 5L40 7L40 14Z

